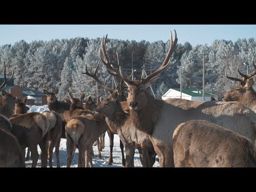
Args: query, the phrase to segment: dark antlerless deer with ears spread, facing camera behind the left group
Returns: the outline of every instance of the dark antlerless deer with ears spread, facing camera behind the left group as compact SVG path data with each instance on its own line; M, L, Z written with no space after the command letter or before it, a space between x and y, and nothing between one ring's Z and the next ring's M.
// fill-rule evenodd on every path
M65 110L69 110L70 108L70 102L59 102L56 94L59 92L59 89L56 89L53 92L49 92L47 90L43 90L44 94L47 95L47 105L49 107L50 111L54 111L58 114L60 114L61 120L62 120L62 134L61 134L61 138L66 138L65 135L65 125L66 125L66 121L64 118L64 111Z

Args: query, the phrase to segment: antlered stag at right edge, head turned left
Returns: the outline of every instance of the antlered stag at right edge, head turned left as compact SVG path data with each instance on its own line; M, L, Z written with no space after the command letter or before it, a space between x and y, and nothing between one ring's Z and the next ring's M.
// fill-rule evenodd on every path
M254 75L256 75L256 66L254 64L253 58L252 58L252 64L255 70L248 75L242 74L237 67L237 71L242 76L242 78L229 77L227 73L225 73L228 79L233 81L238 81L240 82L240 84L234 87L234 89L225 93L222 96L222 100L223 101L239 101L244 105L247 105L248 107L250 107L254 112L256 112L256 93L252 88L252 86L254 85L254 80L253 78L251 78ZM247 81L247 79L249 80Z

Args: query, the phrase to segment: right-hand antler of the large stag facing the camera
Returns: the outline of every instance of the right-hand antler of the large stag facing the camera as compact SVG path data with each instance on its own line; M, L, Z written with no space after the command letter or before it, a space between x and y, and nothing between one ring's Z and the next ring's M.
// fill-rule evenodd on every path
M173 42L173 39L172 39L172 32L171 32L171 39L170 39L170 46L169 46L169 50L168 50L168 53L164 59L164 62L162 63L162 65L152 74L150 74L149 76L147 76L146 78L142 78L141 81L142 82L147 82L149 81L151 78L157 76L161 71L163 71L166 67L169 66L169 63L171 61L171 56L172 56L172 53L174 52L175 50L175 46L178 42L178 38L177 38L177 34L176 34L176 31L174 30L174 34L175 34L175 39L174 39L174 42Z

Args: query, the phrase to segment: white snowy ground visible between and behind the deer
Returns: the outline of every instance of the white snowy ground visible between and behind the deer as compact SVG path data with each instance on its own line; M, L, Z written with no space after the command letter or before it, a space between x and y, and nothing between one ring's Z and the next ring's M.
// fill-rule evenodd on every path
M28 106L28 105L27 105ZM39 113L43 113L45 110L49 110L48 106L28 106L29 107L29 112L37 111ZM98 157L98 147L93 146L93 166L94 167L123 167L122 166L122 153L121 149L119 147L119 137L118 135L114 135L114 147L113 147L113 161L112 165L108 165L108 158L109 158L109 153L110 153L110 147L109 147L109 137L108 134L106 133L105 135L105 148L102 149L101 151L101 158ZM53 149L55 151L55 148ZM38 153L41 153L41 149L38 146ZM55 154L53 153L53 167L56 167L56 157ZM67 164L67 150L66 150L66 139L61 139L60 142L60 166L61 167L66 167ZM76 152L74 154L74 158L72 161L71 167L77 167L78 164L78 150L76 149ZM31 167L32 165L32 160L26 161L26 167ZM135 150L135 155L134 155L134 166L135 167L142 167L141 162L140 162L140 157L138 150ZM38 162L37 162L37 167L41 167L41 159L39 157ZM49 165L48 165L49 167ZM154 167L159 167L159 163L156 161L154 164Z

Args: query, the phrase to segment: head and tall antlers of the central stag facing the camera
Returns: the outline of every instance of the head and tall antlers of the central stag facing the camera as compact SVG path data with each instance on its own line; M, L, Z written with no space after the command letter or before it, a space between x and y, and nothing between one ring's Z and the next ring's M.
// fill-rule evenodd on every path
M127 88L127 92L128 92L127 102L130 105L130 109L140 110L147 105L146 89L157 80L157 78L159 77L159 73L161 73L161 71L163 71L165 68L167 68L169 66L171 55L174 52L175 46L178 41L176 31L174 30L174 32L175 32L174 42L173 42L172 34L171 34L169 51L168 51L162 65L154 73L150 74L147 77L142 77L140 81L138 81L138 80L132 81L129 77L126 77L122 73L121 66L116 65L115 63L111 62L108 59L107 52L105 49L107 36L106 36L106 38L103 37L102 42L101 42L101 52L102 52L103 58L101 57L101 54L99 54L100 60L106 66L109 74L111 74L113 76L121 77L123 79L123 81L125 82L125 84L127 85L127 87L128 87ZM118 58L118 55L117 55L117 58ZM118 64L119 64L119 62L118 62ZM113 68L113 66L118 67L119 71L115 70Z

